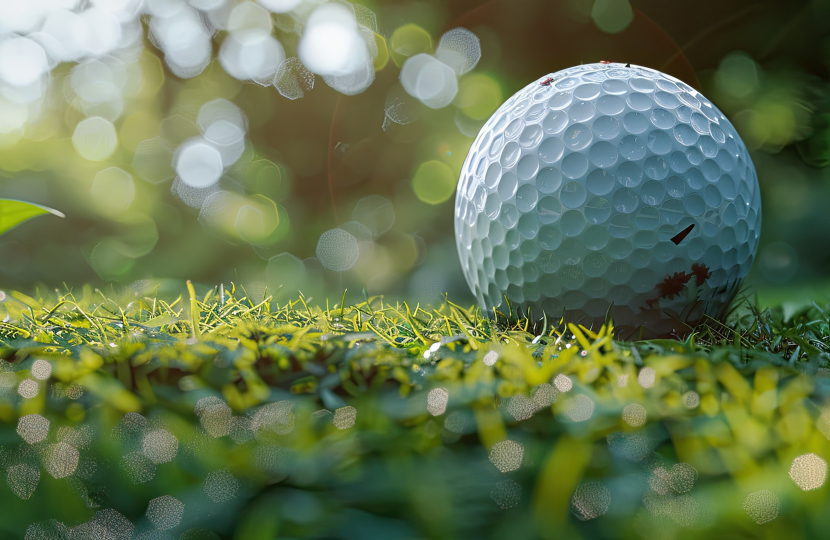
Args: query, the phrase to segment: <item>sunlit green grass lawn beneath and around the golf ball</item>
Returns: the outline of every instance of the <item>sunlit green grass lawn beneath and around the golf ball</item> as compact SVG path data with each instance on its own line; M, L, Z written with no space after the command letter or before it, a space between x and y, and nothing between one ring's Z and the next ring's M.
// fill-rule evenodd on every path
M824 534L830 306L682 342L190 285L0 320L0 537Z

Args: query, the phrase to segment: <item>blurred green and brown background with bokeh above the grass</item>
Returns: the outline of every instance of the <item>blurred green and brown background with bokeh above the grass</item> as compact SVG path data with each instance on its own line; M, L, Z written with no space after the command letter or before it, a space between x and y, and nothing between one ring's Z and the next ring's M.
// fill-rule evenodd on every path
M761 303L830 291L830 0L0 0L0 286L472 302L458 172L514 92L625 61L758 171ZM364 293L365 291L365 293Z

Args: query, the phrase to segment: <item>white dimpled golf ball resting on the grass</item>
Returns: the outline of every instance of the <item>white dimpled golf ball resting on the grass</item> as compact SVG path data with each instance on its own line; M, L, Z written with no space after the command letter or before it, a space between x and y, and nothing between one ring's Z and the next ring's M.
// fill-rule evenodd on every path
M455 203L482 309L506 311L506 297L514 313L591 326L610 308L623 338L721 315L760 230L732 124L687 84L623 64L559 71L511 97L473 142Z

